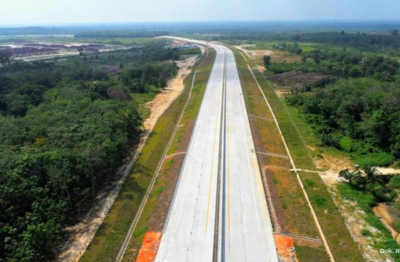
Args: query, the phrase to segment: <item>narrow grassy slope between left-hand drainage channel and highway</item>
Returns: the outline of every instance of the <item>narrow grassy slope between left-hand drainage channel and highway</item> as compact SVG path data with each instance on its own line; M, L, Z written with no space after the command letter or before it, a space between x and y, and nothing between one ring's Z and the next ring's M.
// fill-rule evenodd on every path
M175 137L173 138L173 142L170 148L174 147L176 150L179 148L180 138L186 131L187 124L190 121L194 121L197 116L198 110L200 109L200 104L202 100L203 93L205 91L205 86L208 80L209 73L211 72L213 61L215 58L215 50L208 49L208 57L201 64L201 67L198 68L198 72L196 73L196 77L194 78L194 84L192 93L190 96L189 103L186 106L186 109L183 113L182 119L179 124L179 128L175 133ZM200 60L201 63L201 60ZM197 69L199 62L194 66L194 70ZM194 70L184 79L184 86L191 86L191 80L193 76ZM179 139L177 139L179 137ZM168 150L169 152L170 150ZM172 152L176 153L176 152ZM167 153L168 155L168 153ZM151 189L150 195L146 201L143 212L137 222L136 228L132 233L132 238L129 241L128 247L123 255L122 261L132 261L137 256L138 250L140 249L141 243L143 241L144 233L148 229L148 221L152 214L157 212L156 206L158 202L159 195L163 192L164 186L166 184L166 180L168 177L166 174L170 170L173 163L173 158L165 161L162 164L161 170L158 174L156 182L154 183L153 188Z

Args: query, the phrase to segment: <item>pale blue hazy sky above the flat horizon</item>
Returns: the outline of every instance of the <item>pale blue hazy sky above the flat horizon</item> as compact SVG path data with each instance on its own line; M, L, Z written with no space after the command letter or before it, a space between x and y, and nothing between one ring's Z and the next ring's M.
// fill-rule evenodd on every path
M0 25L400 19L400 0L0 0Z

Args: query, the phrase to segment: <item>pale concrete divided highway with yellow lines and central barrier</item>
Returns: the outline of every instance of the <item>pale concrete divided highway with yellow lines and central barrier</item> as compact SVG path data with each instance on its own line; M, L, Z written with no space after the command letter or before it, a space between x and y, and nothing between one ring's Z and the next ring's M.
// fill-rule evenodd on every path
M234 55L184 40L216 57L155 261L277 262Z

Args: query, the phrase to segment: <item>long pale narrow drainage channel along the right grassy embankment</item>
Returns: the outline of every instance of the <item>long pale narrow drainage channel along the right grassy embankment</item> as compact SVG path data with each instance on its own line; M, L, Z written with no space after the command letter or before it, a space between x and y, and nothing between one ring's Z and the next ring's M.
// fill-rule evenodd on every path
M241 55L243 56L243 58L244 58L243 53L240 52L240 54L241 54ZM245 58L244 58L244 59L245 59ZM245 60L246 60L246 59L245 59ZM247 63L247 62L246 62L246 63ZM277 127L277 129L278 129L278 132L279 132L280 137L281 137L281 139L282 139L283 145L284 145L284 147L285 147L285 149L286 149L286 152L287 152L287 155L288 155L288 157L289 157L291 166L292 166L293 169L295 170L296 167L295 167L295 165L294 165L293 159L291 158L289 149L287 148L286 141L285 141L285 139L284 139L284 137L283 137L283 135L282 135L282 132L280 131L279 124L278 124L278 122L277 122L277 120L276 120L275 114L273 113L273 110L272 110L271 106L269 105L268 100L266 99L266 97L265 97L265 95L264 95L264 92L262 91L261 86L259 85L259 83L258 83L257 79L255 78L253 72L251 71L251 68L250 68L250 66L249 66L248 63L247 63L247 68L248 68L248 70L251 72L251 75L253 76L254 81L257 83L257 86L258 86L258 88L259 88L259 90L260 90L260 92L261 92L261 94L262 94L262 96L263 96L263 98L264 98L265 103L267 104L269 110L270 110L271 113L272 113L273 120L274 120L275 125L276 125L276 127ZM305 200L306 200L306 202L307 202L307 205L308 205L308 207L309 207L309 209L310 209L310 211L311 211L312 218L314 219L315 225L316 225L316 227L317 227L317 229L318 229L318 232L319 232L319 237L321 238L322 244L323 244L323 246L325 247L325 250L326 250L326 253L328 254L329 260L332 261L332 262L334 262L332 253L330 252L329 246L328 246L328 244L327 244L327 242L326 242L325 236L323 235L322 229L321 229L321 227L320 227L320 225L319 225L318 219L317 219L317 217L316 217L316 215L315 215L315 212L314 212L314 210L313 210L313 208L312 208L312 205L311 205L311 203L309 202L308 195L307 195L307 193L306 193L305 190L304 190L304 186L303 186L303 184L302 184L302 182L301 182L301 179L299 178L297 171L294 171L294 173L296 174L297 182L298 182L298 184L299 184L299 186L300 186L300 188L301 188L301 190L302 190L302 192L303 192L304 198L305 198Z

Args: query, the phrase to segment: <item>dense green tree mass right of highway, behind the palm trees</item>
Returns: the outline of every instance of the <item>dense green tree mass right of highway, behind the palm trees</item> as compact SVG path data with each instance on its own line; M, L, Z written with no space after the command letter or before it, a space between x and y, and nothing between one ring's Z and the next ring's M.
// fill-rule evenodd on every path
M400 157L398 84L341 80L287 102L303 110L325 145L347 151L361 166L387 166Z

